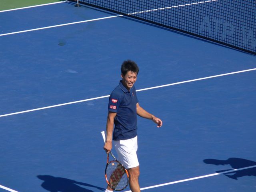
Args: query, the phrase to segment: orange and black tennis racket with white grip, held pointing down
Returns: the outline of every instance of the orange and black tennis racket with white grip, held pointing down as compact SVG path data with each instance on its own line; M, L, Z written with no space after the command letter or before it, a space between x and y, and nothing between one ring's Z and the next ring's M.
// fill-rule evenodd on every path
M105 132L101 132L104 142L106 142ZM108 185L116 191L125 189L128 186L129 174L126 168L116 159L116 157L109 152L114 160L109 161L109 154L107 158L107 165L105 168L105 178Z

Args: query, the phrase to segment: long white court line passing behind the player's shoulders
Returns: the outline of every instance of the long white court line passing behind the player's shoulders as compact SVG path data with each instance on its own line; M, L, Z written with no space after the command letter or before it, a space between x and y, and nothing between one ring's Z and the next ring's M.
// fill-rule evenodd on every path
M220 74L220 75L214 75L214 76L209 76L209 77L204 77L204 78L192 79L192 80L187 80L187 81L182 81L182 82L176 82L176 83L171 83L171 84L166 84L166 85L160 85L160 86L155 86L155 87L150 87L150 88L144 88L144 89L136 90L136 92L150 90L150 89L156 89L156 88L162 88L162 87L172 86L172 85L177 85L177 84L182 84L182 83L188 83L188 82L193 82L193 81L205 80L205 79L210 79L210 78L216 78L216 77L220 77L220 76L232 75L232 74L237 74L237 73L242 73L242 72L249 72L249 71L253 71L253 70L256 70L256 68L242 70L242 71L236 71L236 72L231 72L231 73L225 73L225 74ZM90 100L106 98L106 97L109 97L109 96L110 95L105 95L105 96L100 96L100 97L95 97L95 98L90 98L90 99L85 99L85 100L79 100L79 101L57 104L57 105L52 105L52 106L47 106L47 107L42 107L42 108L36 108L36 109L31 109L31 110L26 110L26 111L20 111L20 112L15 112L15 113L10 113L10 114L4 114L4 115L0 115L0 117L16 115L16 114L21 114L21 113L27 113L27 112L32 112L32 111L38 111L38 110L54 108L54 107L59 107L59 106L64 106L64 105L70 105L70 104L75 104L75 103L80 103L80 102L86 102L86 101L90 101Z

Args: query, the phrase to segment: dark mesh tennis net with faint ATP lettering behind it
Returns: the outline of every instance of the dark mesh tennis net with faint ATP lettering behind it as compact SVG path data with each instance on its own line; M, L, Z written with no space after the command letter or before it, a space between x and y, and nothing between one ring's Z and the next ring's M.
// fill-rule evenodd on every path
M255 0L79 2L256 54Z

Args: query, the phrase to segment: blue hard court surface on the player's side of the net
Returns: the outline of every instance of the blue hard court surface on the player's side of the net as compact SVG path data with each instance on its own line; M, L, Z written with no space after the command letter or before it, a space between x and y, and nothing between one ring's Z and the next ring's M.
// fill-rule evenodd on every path
M138 118L140 187L256 189L255 56L70 2L0 20L0 192L104 191L100 131L126 59L140 105L163 120Z

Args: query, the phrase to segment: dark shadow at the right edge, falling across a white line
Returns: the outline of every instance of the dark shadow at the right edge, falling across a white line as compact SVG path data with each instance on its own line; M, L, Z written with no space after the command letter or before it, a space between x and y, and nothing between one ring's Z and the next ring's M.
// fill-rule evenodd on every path
M243 176L256 176L256 162L250 161L247 159L241 159L241 158L229 158L227 160L205 159L204 163L214 164L214 165L230 165L233 169L220 170L216 172L224 174L225 176L235 180ZM254 167L248 168L250 166L254 166ZM245 169L242 169L242 168L245 168ZM238 169L238 170L234 170L234 169ZM234 170L234 171L229 172L231 170Z

